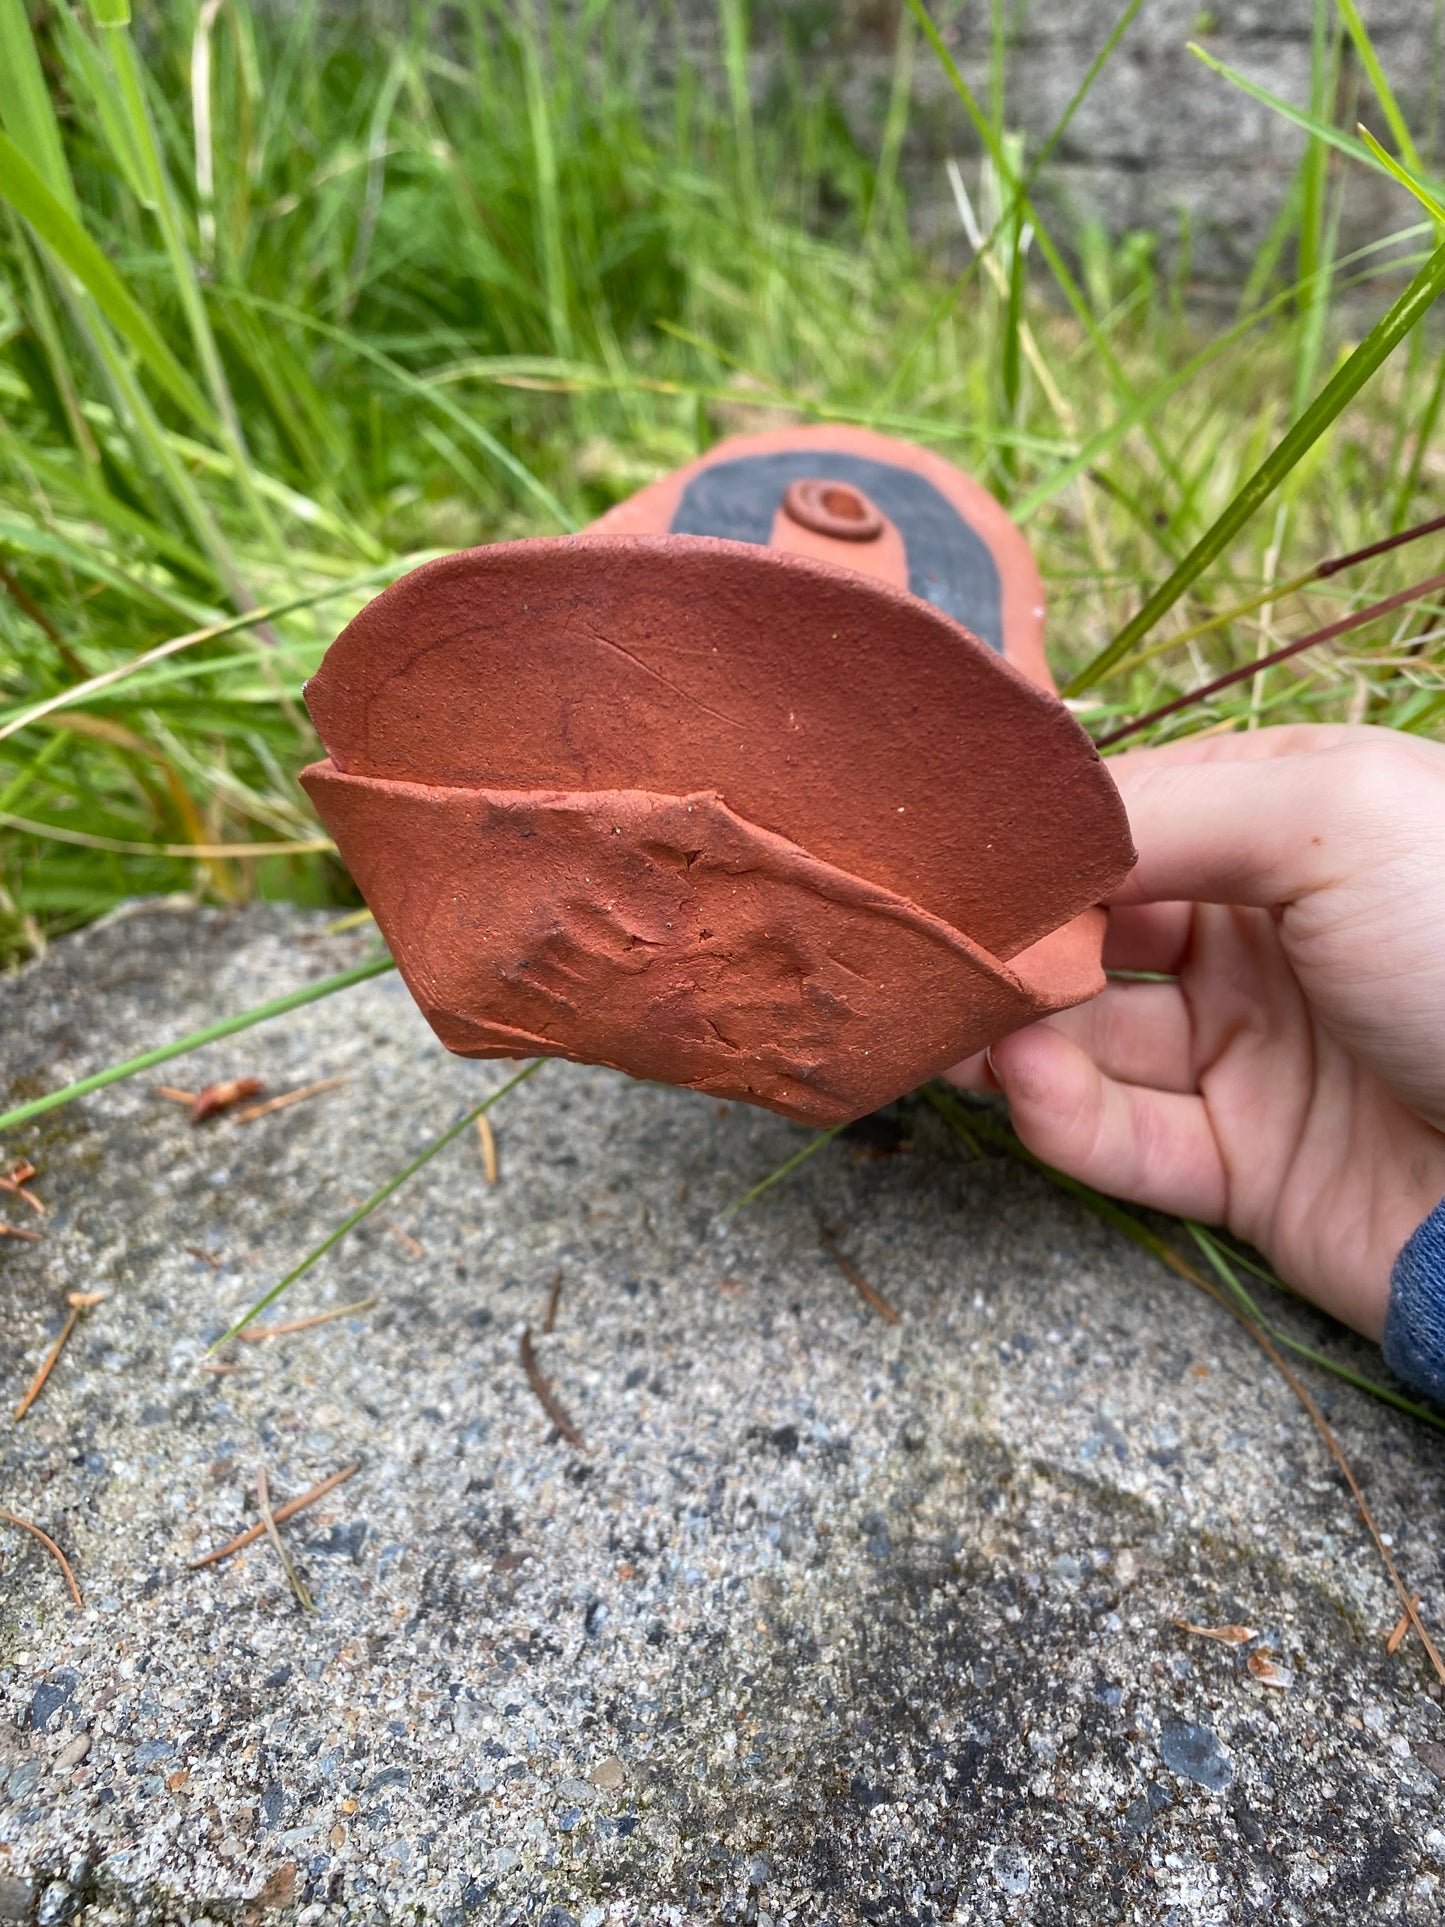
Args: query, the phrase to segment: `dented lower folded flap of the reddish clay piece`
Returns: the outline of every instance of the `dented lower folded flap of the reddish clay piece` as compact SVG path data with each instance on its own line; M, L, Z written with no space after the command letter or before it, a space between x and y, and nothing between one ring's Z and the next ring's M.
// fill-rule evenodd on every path
M1002 962L713 790L302 784L441 1043L846 1123L1102 989L1102 913ZM526 886L518 888L518 879Z

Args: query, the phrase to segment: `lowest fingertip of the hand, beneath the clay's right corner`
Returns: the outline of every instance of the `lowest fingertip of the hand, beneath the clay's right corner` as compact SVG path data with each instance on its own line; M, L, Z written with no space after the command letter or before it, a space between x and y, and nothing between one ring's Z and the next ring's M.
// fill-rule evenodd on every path
M1225 1220L1225 1168L1200 1096L1106 1077L1052 1023L1006 1037L990 1062L1035 1156L1135 1204Z

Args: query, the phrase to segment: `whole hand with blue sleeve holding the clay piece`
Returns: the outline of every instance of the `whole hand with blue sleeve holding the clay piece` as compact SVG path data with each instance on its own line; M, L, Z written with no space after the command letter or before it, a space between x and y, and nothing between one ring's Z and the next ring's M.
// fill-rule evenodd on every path
M1378 1339L1445 1197L1445 748L1299 726L1110 761L1112 981L950 1077L1048 1164L1222 1224Z

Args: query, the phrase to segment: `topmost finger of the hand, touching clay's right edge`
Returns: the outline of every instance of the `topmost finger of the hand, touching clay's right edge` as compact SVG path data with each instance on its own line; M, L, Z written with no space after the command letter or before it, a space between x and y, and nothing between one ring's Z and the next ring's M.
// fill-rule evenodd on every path
M1435 744L1358 730L1314 753L1287 744L1272 753L1268 738L1304 732L1256 734L1266 750L1252 755L1143 752L1110 763L1139 846L1116 902L1279 908L1360 875L1445 817L1445 752Z

